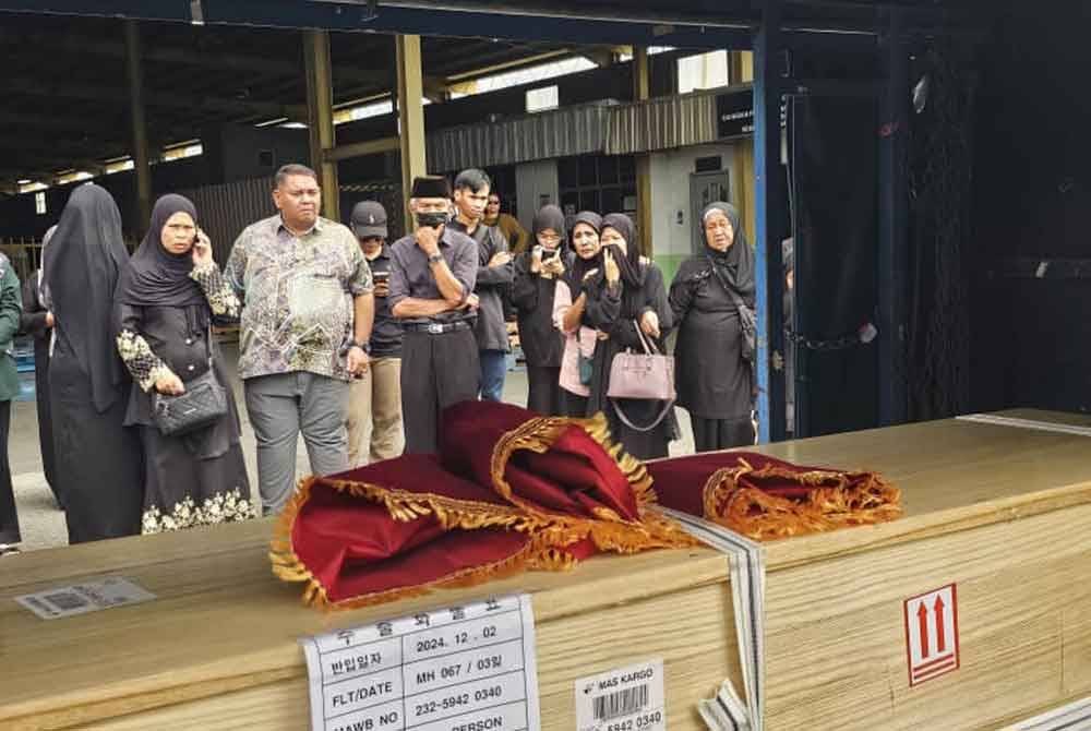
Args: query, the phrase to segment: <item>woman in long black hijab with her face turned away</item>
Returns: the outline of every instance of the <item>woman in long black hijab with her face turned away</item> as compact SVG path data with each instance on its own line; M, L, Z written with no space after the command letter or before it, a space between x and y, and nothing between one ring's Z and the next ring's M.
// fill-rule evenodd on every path
M94 183L76 188L43 262L56 332L56 479L70 543L140 532L140 442L122 426L130 383L113 349L113 290L128 261L113 199Z

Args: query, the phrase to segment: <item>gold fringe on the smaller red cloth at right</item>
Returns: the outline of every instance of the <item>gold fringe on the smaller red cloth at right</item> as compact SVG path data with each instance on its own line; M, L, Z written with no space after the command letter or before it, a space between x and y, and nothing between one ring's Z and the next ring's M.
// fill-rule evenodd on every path
M901 491L874 472L838 472L766 466L755 470L745 459L726 467L705 483L705 518L755 540L775 540L825 532L849 526L875 525L899 517ZM743 476L780 477L812 488L806 498L793 500L739 484ZM851 482L863 479L863 484Z

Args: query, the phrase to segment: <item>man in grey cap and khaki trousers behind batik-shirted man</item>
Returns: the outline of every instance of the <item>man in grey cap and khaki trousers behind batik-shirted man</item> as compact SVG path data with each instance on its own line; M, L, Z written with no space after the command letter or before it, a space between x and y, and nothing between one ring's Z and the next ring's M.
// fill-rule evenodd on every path
M370 368L352 383L345 417L348 466L391 459L401 454L401 323L391 312L391 249L386 244L386 209L377 201L352 208L349 228L371 266L375 289L375 324L369 341Z

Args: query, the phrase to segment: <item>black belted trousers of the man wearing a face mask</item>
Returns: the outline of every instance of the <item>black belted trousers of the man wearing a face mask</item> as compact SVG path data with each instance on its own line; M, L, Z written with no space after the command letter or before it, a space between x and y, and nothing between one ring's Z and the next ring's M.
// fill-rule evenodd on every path
M481 370L472 329L432 335L406 331L401 340L401 419L406 454L435 453L440 412L477 400Z

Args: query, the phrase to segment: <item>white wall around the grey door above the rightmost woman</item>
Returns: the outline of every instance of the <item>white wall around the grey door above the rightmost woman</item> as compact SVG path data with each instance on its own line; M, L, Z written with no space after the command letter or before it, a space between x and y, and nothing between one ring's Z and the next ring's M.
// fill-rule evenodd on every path
M731 178L733 154L729 143L652 153L651 247L657 259L685 256L692 251L690 173L695 171L694 163L698 157L720 156L728 171L731 196L735 196L736 183Z

